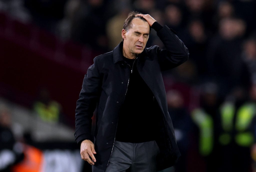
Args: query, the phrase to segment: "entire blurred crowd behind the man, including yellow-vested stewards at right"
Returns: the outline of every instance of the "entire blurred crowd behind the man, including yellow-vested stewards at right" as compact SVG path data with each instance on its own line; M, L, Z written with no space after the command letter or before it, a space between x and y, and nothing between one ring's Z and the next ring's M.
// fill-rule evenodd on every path
M254 0L0 0L0 10L99 54L120 43L131 10L172 28L190 53L163 73L183 155L175 172L256 171L255 9ZM152 30L155 44L164 48Z

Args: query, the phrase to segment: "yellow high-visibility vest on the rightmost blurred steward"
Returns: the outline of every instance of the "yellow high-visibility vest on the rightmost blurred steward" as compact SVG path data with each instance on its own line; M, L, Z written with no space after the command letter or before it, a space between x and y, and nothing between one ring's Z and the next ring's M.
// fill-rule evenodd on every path
M239 107L236 113L236 123L233 124L235 111L236 108L231 102L226 102L220 107L223 133L219 136L219 142L222 145L228 145L232 140L231 132L235 130L234 141L240 146L251 146L254 143L254 135L248 129L256 114L256 104L246 103Z

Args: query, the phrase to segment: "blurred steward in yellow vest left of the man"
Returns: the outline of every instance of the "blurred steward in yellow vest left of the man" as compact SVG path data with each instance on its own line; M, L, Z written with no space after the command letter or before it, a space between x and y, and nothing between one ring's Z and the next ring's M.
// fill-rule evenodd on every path
M38 99L34 102L34 110L43 121L58 123L61 114L61 105L52 100L48 89L40 90Z

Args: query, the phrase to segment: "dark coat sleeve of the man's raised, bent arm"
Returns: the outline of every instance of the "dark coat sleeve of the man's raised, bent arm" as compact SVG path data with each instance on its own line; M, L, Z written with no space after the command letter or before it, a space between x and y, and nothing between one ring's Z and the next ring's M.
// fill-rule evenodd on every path
M158 23L156 24L159 25ZM177 67L187 61L189 52L187 47L172 29L168 28L166 25L160 28L161 29L157 27L157 29L154 29L157 31L157 36L165 45L165 49L160 49L157 46L157 57L161 70L165 71Z

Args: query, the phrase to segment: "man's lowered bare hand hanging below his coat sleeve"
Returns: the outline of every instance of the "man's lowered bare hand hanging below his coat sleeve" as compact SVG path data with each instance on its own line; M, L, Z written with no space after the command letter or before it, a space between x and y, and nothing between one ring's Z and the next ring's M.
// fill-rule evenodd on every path
M80 154L81 158L85 161L87 161L89 164L94 165L94 162L96 162L96 159L93 154L96 154L94 149L94 144L90 140L84 140L81 143L80 146ZM91 158L92 160L91 160Z

